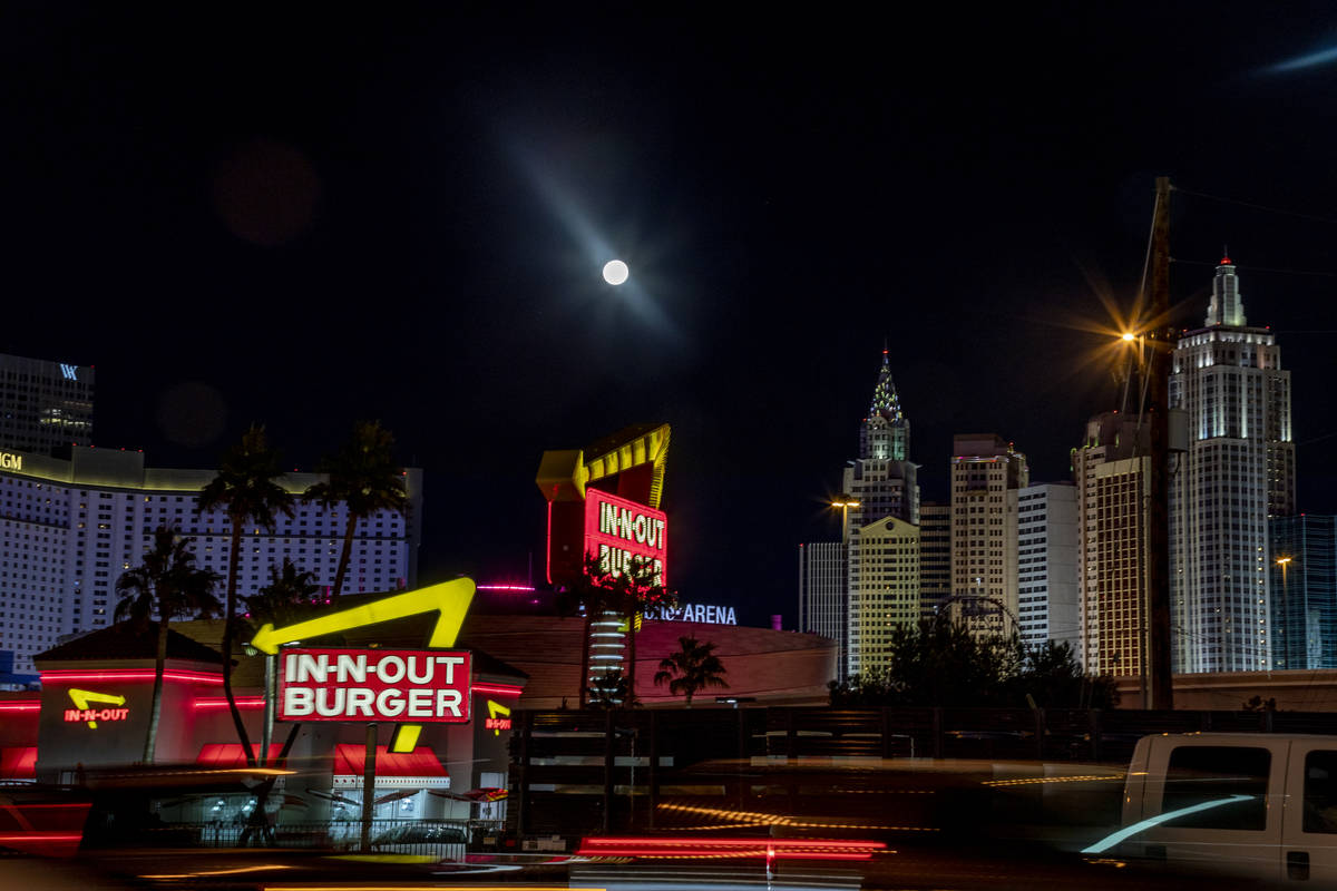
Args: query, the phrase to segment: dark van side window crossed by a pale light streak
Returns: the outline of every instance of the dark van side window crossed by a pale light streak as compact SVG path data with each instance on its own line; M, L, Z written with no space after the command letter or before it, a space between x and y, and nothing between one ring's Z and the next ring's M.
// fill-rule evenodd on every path
M1271 752L1237 745L1179 745L1170 753L1161 812L1198 808L1165 826L1251 830L1267 824Z

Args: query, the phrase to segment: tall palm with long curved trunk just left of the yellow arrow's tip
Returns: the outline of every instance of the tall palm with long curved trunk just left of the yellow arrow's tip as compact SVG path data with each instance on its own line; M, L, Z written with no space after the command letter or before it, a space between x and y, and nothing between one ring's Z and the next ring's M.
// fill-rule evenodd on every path
M246 763L255 765L250 736L242 723L237 697L233 695L233 639L237 632L237 568L241 560L242 533L247 520L274 532L275 516L293 516L293 496L274 482L283 476L278 452L269 446L265 427L253 423L241 442L223 453L218 476L199 494L199 512L222 508L231 526L231 549L227 554L227 602L223 606L223 695L233 715L237 739Z

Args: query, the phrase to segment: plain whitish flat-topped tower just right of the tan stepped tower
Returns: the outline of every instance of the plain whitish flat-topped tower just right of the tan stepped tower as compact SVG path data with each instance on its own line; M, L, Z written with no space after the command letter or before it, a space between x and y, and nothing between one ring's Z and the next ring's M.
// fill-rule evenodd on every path
M1016 496L1016 620L1021 643L1076 645L1078 498L1071 482L1038 482Z

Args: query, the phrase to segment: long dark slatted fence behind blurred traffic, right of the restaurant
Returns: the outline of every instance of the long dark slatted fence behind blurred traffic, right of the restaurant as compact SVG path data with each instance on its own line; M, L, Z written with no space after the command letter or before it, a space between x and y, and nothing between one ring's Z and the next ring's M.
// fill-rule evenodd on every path
M757 811L749 801L758 796L786 796L798 807L805 796L822 797L821 781L849 785L841 772L876 759L1118 768L1148 733L1337 735L1337 713L1301 712L754 707L513 717L508 816L520 838L658 828L668 811L738 815ZM812 779L775 779L786 765ZM874 800L876 792L850 800Z

